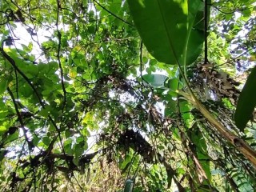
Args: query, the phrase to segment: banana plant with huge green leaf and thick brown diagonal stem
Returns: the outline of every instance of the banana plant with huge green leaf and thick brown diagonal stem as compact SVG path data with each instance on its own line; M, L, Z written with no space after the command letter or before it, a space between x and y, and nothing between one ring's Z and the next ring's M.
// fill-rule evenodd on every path
M178 94L194 105L218 130L218 134L226 138L256 167L256 152L206 110L186 78L186 66L198 58L203 43L206 42L205 21L210 17L207 3L202 0L128 0L130 14L149 53L158 62L178 65L187 87L187 92L176 90Z

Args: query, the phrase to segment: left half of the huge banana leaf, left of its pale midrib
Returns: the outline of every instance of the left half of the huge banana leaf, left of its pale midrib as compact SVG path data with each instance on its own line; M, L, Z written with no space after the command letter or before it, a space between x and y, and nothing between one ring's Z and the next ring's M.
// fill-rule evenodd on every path
M128 3L150 54L159 62L176 63L186 43L187 2L129 0Z

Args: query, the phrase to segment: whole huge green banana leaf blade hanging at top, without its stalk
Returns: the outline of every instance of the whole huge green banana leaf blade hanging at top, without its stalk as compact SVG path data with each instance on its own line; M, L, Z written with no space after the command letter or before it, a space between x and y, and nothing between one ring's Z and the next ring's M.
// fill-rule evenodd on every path
M128 0L128 3L142 41L159 62L190 64L198 58L204 42L201 0Z

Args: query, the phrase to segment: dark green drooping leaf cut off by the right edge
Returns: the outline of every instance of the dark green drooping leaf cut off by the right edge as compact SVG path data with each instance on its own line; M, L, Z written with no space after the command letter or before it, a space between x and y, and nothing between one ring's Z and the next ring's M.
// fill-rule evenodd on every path
M234 114L234 121L239 130L244 131L247 122L252 117L256 106L256 66L247 78L246 84L238 98L237 110Z

